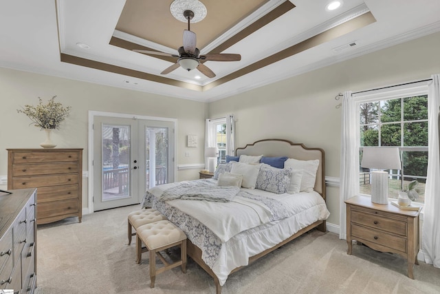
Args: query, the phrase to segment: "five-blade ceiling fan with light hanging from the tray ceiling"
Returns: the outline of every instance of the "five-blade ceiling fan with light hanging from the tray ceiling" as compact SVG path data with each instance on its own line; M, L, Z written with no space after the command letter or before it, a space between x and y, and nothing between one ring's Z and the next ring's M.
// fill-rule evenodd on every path
M209 67L201 63L200 61L239 61L241 60L240 54L228 54L228 53L220 53L220 54L203 54L200 55L199 48L196 48L196 34L190 30L190 21L194 17L194 12L192 10L185 10L184 17L188 20L188 30L184 30L184 45L177 49L179 55L177 54L169 54L165 52L159 51L150 51L150 50L133 50L135 52L144 53L144 54L154 54L154 55L162 55L162 56L173 56L177 58L177 62L170 67L166 68L160 74L169 74L176 70L179 66L184 68L185 70L194 70L197 68L202 74L208 76L208 78L214 78L215 74L210 70Z

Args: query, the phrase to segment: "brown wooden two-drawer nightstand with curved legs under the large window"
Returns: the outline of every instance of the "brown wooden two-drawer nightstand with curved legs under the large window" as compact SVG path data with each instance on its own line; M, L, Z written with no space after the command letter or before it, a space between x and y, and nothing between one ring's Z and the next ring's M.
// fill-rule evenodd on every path
M414 279L412 268L419 252L419 211L408 211L393 204L376 204L371 198L355 196L347 204L347 244L351 255L352 241L371 249L397 253L408 260L408 277Z

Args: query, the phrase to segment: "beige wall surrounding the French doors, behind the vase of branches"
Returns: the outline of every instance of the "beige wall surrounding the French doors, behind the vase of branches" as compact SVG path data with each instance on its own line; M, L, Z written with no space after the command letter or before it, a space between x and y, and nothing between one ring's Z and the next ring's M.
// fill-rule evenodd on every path
M6 148L40 148L39 143L45 139L45 133L30 126L28 117L18 114L17 109L37 105L38 97L47 101L54 95L56 101L72 106L72 110L61 130L54 132L53 140L57 147L83 148L84 171L88 168L89 110L177 118L177 165L203 163L206 103L0 68L0 177L8 174ZM198 135L199 147L186 147L187 134ZM198 178L198 172L178 171L177 180ZM87 207L87 178L83 179L83 187L83 207Z

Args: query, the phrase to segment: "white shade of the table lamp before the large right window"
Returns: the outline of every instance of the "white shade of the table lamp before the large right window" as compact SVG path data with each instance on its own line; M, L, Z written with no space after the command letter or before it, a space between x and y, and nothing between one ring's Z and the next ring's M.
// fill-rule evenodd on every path
M360 166L369 169L401 169L399 148L364 147Z

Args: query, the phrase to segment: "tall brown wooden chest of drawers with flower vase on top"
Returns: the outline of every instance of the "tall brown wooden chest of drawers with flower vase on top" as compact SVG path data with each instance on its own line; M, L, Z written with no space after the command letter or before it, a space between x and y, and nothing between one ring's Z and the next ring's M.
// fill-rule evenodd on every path
M83 149L8 149L8 189L38 189L37 224L83 216Z

